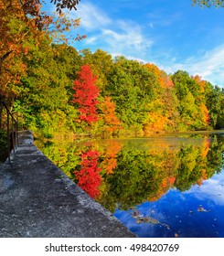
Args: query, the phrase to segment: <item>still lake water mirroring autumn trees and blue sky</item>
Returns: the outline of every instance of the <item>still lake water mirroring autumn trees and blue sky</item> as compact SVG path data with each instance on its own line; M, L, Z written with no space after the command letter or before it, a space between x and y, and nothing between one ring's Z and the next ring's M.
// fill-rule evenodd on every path
M42 149L138 237L224 237L224 134L114 139Z

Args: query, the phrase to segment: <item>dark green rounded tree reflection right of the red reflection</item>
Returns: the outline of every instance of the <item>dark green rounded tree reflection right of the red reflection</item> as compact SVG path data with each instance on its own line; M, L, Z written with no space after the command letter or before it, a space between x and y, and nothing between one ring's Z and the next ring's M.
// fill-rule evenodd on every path
M124 145L118 153L114 174L105 178L110 183L108 197L113 197L108 202L114 202L113 206L108 206L111 210L115 210L116 205L128 209L156 195L163 176L158 174L158 168L149 164L149 158L147 152L130 144Z

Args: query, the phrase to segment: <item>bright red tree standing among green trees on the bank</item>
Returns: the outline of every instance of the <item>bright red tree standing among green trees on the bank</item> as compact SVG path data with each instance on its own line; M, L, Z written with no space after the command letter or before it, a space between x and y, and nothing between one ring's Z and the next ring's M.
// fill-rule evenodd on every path
M96 76L91 72L89 65L84 65L78 72L78 80L74 81L73 103L78 103L80 109L80 120L92 123L98 120L96 100L99 95L99 88L96 85Z

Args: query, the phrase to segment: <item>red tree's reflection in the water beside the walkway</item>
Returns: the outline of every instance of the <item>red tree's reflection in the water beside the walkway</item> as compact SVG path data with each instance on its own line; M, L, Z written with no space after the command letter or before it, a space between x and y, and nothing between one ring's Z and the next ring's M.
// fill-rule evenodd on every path
M78 180L78 186L92 198L100 197L101 168L98 167L99 152L89 150L81 156L81 169L74 174Z

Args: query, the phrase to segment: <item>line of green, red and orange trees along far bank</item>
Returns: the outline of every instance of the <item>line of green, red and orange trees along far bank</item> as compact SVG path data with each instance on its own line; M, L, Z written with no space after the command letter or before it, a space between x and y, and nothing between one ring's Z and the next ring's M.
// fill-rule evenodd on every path
M48 42L48 41L47 41ZM46 50L46 52L44 52ZM14 109L24 125L57 133L102 137L211 130L224 126L224 91L177 70L43 44L27 59Z

